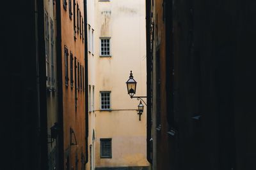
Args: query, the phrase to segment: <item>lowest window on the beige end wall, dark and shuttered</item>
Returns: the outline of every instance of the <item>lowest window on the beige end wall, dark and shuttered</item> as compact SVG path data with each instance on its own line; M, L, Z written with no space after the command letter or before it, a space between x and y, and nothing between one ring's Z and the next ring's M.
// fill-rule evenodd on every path
M112 139L100 139L100 158L112 158Z

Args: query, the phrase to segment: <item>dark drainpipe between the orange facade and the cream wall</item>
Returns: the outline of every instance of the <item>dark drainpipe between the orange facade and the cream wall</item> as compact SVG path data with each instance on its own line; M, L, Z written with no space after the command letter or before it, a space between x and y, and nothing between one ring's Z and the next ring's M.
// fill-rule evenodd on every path
M88 163L88 52L87 52L87 0L84 0L84 80L85 80L85 164Z

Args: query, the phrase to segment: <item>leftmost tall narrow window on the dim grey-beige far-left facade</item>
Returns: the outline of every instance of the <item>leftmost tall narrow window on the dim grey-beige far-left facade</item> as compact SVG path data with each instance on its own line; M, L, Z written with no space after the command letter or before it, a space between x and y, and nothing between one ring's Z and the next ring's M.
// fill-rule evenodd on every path
M46 62L46 86L47 88L50 87L50 59L49 59L49 20L48 20L48 13L45 11L44 15L45 19L45 62Z

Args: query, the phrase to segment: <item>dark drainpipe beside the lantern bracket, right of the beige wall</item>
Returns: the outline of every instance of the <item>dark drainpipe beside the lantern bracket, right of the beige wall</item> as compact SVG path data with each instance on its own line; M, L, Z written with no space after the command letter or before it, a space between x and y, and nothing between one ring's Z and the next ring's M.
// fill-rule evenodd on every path
M146 38L147 38L147 160L152 164L152 141L151 139L151 74L152 59L150 52L150 6L151 0L146 0Z

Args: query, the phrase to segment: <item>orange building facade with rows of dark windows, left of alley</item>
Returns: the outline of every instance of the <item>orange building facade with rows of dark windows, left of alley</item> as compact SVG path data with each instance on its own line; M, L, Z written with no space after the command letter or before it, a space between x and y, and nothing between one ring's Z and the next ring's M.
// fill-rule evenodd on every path
M60 2L64 169L84 169L85 62L84 2Z

